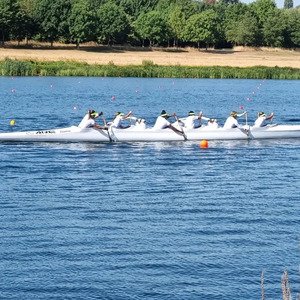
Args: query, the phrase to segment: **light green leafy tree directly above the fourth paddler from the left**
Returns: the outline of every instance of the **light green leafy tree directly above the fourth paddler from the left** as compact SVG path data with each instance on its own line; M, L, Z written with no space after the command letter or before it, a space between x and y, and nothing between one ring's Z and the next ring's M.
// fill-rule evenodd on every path
M185 39L197 43L198 48L200 43L204 43L207 49L216 40L216 20L216 13L212 9L191 16L185 27Z

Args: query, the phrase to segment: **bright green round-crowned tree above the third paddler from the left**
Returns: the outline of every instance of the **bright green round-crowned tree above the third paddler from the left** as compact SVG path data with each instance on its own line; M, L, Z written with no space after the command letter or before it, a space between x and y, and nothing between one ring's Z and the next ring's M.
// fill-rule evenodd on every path
M142 39L143 45L144 41L148 40L152 47L154 43L162 43L168 37L168 25L160 12L155 10L141 14L133 26L137 35Z

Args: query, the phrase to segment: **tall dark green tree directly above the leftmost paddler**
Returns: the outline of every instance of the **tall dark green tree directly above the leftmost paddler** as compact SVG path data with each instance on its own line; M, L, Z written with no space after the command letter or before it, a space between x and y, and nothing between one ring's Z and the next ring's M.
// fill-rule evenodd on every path
M87 0L77 0L71 8L69 29L71 41L79 44L93 40L96 16Z

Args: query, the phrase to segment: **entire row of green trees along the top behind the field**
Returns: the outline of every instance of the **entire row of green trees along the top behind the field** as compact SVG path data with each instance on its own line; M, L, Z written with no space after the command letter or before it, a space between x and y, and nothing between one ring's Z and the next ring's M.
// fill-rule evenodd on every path
M133 46L297 48L300 8L285 0L1 0L9 40Z

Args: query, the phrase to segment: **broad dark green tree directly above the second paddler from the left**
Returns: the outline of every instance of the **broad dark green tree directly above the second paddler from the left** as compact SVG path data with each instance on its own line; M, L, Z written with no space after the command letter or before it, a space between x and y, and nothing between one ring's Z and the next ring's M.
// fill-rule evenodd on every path
M109 1L97 11L96 35L99 43L122 43L129 32L129 20L123 8Z

